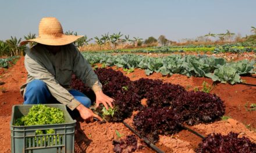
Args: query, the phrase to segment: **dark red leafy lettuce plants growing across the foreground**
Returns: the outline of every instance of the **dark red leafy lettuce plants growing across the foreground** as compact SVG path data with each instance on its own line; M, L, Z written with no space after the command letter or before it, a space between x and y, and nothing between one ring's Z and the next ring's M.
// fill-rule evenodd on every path
M159 79L141 78L130 81L122 72L111 68L99 68L95 73L102 83L103 92L115 99L113 109L106 110L100 105L94 110L95 113L107 122L121 122L130 118L133 111L138 111L134 114L132 126L151 143L157 143L160 134L170 136L169 134L180 132L184 123L197 125L214 122L225 114L225 104L215 94L188 92L180 85L162 82ZM94 92L79 79L74 77L71 86L95 101ZM141 99L147 99L147 104L142 105ZM238 135L209 134L195 152L253 152L256 144ZM114 152L125 152L126 148L132 148L130 152L133 152L137 149L136 137L131 135L126 138L123 141L113 141ZM232 141L228 140L230 138Z

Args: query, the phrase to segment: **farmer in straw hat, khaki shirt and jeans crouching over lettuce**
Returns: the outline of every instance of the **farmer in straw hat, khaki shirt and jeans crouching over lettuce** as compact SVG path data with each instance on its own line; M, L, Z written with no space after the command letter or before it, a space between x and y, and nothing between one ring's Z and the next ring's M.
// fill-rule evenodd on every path
M113 99L102 92L102 85L91 65L73 45L83 36L63 34L62 25L55 17L42 18L38 33L38 38L20 43L37 42L26 51L27 82L20 88L24 104L46 104L57 100L70 110L78 110L84 120L93 122L93 118L98 118L102 121L88 108L91 100L69 86L74 73L94 91L97 106L103 104L107 109L108 105L113 108Z

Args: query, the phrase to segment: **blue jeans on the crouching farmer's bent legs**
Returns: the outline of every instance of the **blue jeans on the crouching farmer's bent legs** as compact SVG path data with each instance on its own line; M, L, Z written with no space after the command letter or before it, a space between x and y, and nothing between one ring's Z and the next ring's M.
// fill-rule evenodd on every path
M87 108L91 106L91 100L83 93L77 90L69 90L69 93L74 96L74 99L79 101ZM49 92L45 82L40 79L34 79L26 86L23 104L49 104L59 103Z

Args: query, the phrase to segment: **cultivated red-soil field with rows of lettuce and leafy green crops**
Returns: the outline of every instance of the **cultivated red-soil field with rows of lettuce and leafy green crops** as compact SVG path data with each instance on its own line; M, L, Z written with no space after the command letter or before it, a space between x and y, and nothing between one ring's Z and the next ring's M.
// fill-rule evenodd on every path
M104 93L116 100L116 109L104 111L101 106L94 110L105 123L86 123L76 112L72 113L78 121L76 152L113 152L113 140L118 140L115 149L123 148L123 152L154 152L137 136L136 144L122 144L120 139L133 134L122 121L164 152L204 152L202 145L201 150L197 149L201 137L184 126L202 136L222 134L220 141L230 132L237 133L241 139L230 134L229 140L243 144L240 148L244 150L239 151L255 152L246 150L256 148L253 46L153 47L82 54L98 75ZM6 68L0 68L1 152L10 152L12 105L23 103L19 88L27 77L23 56L15 64L6 62L2 62ZM71 86L95 99L93 92L75 76ZM214 152L214 145L207 141L204 147Z

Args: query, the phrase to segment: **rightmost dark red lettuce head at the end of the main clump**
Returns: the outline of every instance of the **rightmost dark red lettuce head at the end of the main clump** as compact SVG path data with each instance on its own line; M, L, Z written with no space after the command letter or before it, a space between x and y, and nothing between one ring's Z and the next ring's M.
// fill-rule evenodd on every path
M172 108L189 125L212 122L225 114L223 101L205 92L184 92L172 103Z

